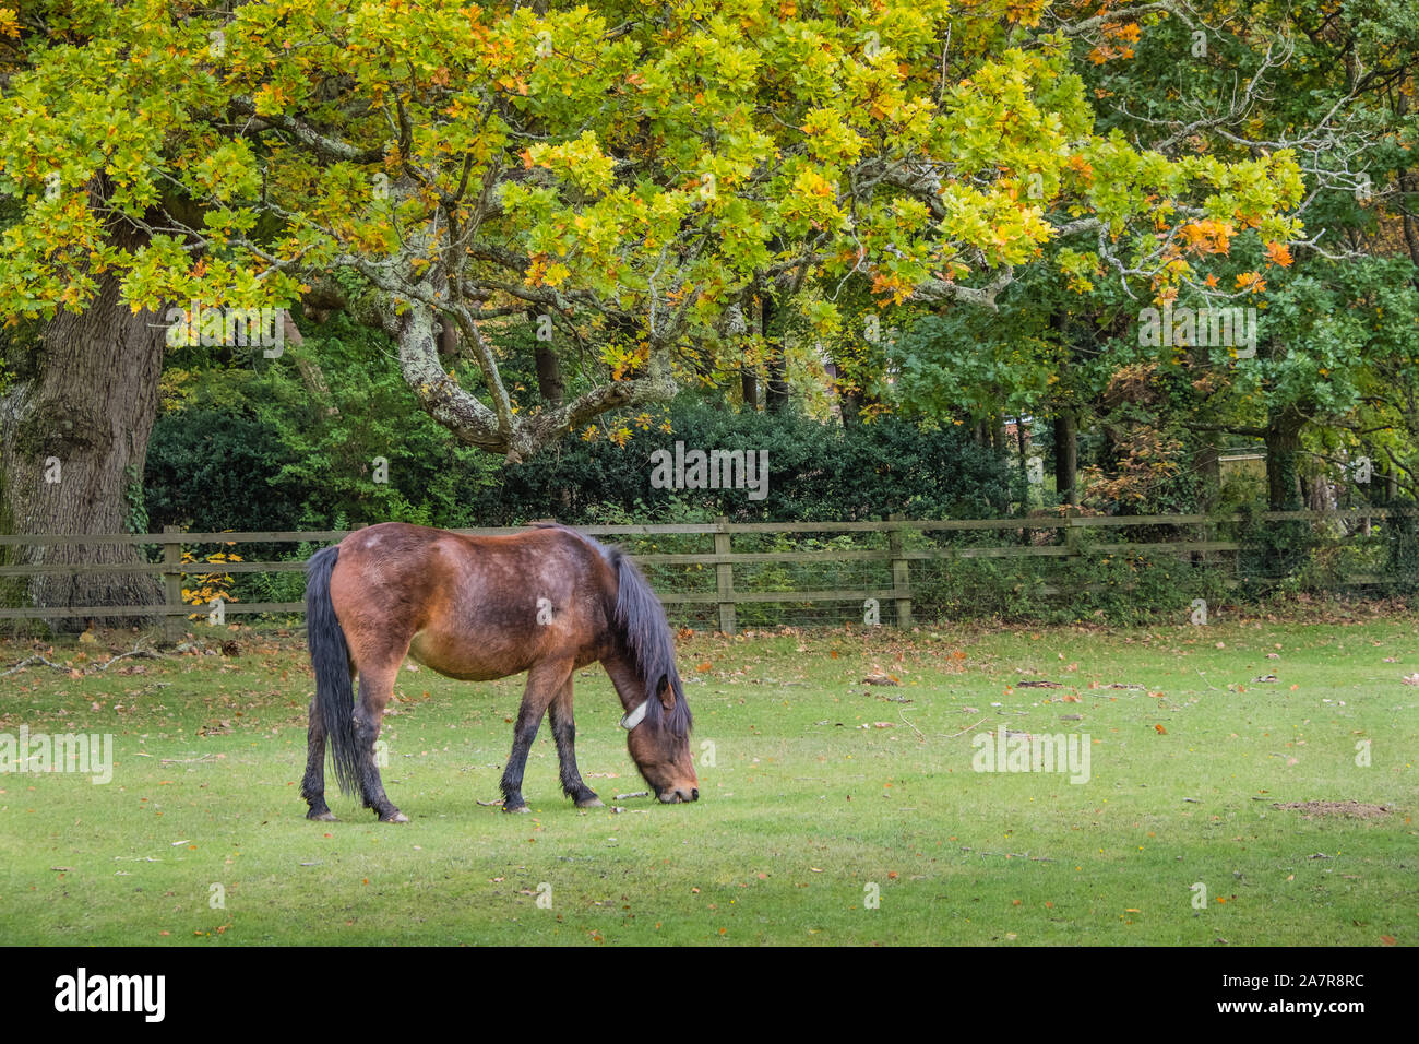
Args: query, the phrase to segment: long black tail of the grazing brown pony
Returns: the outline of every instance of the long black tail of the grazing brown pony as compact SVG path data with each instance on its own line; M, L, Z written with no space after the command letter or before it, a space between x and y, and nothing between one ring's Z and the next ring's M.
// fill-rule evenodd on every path
M359 793L359 757L355 751L355 690L350 686L350 653L345 631L331 604L331 572L341 548L326 547L305 565L305 629L315 668L315 706L325 724L335 780L346 794Z

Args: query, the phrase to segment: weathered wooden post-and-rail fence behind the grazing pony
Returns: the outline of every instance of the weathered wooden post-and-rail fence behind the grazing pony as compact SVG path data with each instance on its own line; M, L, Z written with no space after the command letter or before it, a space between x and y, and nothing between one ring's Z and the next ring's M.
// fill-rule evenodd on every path
M1415 517L1415 509L1382 509L1361 507L1337 511L1266 511L1250 518L1267 523L1332 523L1355 524L1368 530L1374 520L1392 517ZM692 524L664 524L664 526L587 526L580 527L582 533L595 537L650 537L650 535L710 535L714 540L711 553L651 553L637 554L636 561L641 565L697 565L714 567L714 591L661 591L660 599L666 605L714 605L718 609L719 631L735 632L735 607L753 602L778 604L815 604L815 602L864 602L877 599L883 607L891 605L891 615L898 626L910 628L912 624L912 588L911 562L941 561L954 558L1060 558L1077 560L1084 554L1117 555L1130 553L1165 553L1182 557L1216 555L1237 553L1243 544L1236 540L1171 540L1171 541L1115 541L1081 543L1081 535L1090 530L1117 531L1122 527L1168 526L1168 527L1196 527L1203 531L1226 523L1240 523L1243 516L1203 516L1203 514L1159 514L1159 516L1064 516L1064 517L1029 517L1029 518L986 518L986 520L904 520L891 517L885 521L850 521L850 523L692 523ZM501 534L518 533L521 527L512 528L480 528L457 530L467 534ZM1016 543L998 545L935 545L908 548L907 537L912 533L944 533L944 531L1000 531L1013 533ZM1032 543L1032 533L1056 533L1056 543ZM162 605L79 605L62 608L0 608L0 619L84 619L84 618L115 618L115 616L162 616L166 629L172 635L180 632L186 625L186 618L196 611L206 611L203 605L193 605L183 601L182 580L184 575L200 575L210 572L289 572L305 568L302 561L241 561L221 562L217 565L206 561L183 562L182 550L196 544L274 544L274 543L332 543L343 538L349 530L328 531L275 531L275 533L187 533L177 527L165 527L162 533L148 534L109 534L109 535L0 535L0 547L14 545L98 545L98 544L136 544L156 545L162 548L162 561L156 562L115 562L115 564L35 564L35 565L0 565L0 578L6 577L40 577L40 575L160 575L165 585L165 602ZM735 551L734 538L748 534L885 534L887 545L880 548L829 548L813 551ZM1022 538L1023 537L1023 538ZM735 565L759 562L849 562L849 561L877 561L890 562L890 584L854 587L849 589L773 589L773 591L736 591L734 584ZM1351 584L1384 584L1388 578L1375 575L1358 575L1347 582ZM1059 588L1043 585L1036 588L1039 594L1060 594ZM224 614L253 615L253 614L301 614L305 611L304 602L227 602L223 605ZM885 618L888 614L883 612Z

